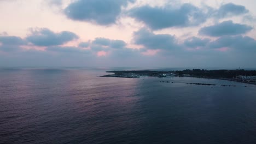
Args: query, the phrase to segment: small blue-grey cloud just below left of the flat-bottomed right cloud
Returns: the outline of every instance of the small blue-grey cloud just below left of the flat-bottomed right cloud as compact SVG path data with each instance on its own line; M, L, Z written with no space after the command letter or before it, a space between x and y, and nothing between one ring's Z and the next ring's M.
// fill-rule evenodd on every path
M197 37L191 37L184 41L184 45L187 47L195 48L195 47L203 47L206 46L210 42L210 39L201 39Z

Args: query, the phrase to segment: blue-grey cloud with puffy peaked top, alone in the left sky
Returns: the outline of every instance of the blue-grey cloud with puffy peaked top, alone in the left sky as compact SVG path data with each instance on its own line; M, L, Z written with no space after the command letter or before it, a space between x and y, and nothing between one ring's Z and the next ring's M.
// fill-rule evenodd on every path
M38 28L35 31L32 30L32 34L26 40L37 46L56 46L78 38L78 35L72 32L54 33L48 28Z

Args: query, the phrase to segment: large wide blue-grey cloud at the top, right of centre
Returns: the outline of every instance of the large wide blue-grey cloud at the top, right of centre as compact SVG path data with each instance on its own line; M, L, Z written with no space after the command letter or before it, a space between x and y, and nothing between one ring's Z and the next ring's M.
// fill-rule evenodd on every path
M131 9L129 15L154 30L168 27L197 26L207 19L206 14L201 9L188 3L179 8L170 5L166 7L144 5Z

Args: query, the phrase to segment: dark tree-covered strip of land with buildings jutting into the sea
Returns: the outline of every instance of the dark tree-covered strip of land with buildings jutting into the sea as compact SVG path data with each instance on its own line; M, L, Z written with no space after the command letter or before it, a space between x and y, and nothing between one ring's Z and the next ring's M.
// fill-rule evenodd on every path
M186 69L173 71L152 71L152 70L115 70L106 71L107 73L114 73L104 75L102 77L125 77L138 78L141 76L154 77L199 77L205 79L222 79L244 83L251 83L256 85L256 70L206 70L206 69Z

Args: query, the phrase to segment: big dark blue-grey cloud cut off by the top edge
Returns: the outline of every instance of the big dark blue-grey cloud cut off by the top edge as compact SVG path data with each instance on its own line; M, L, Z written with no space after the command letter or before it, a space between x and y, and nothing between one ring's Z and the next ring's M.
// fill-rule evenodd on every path
M98 25L115 23L121 7L132 0L78 0L68 5L64 10L69 19L95 22Z

